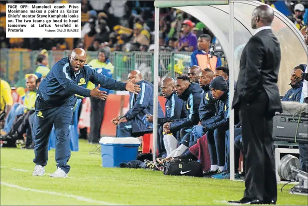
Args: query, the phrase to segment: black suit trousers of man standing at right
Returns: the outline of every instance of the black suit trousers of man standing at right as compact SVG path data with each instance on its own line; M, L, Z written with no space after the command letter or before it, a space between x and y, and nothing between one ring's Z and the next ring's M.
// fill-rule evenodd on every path
M267 111L269 98L262 91L253 102L240 105L243 152L245 157L244 198L277 201L273 145L273 114Z

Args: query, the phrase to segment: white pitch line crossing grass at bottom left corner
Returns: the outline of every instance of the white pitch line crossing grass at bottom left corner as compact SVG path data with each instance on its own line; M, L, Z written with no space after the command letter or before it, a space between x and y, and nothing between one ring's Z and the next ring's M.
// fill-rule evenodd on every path
M82 197L82 196L68 195L68 194L62 194L62 193L57 193L57 192L52 192L52 191L35 190L35 189L24 188L24 187L20 187L18 185L13 185L13 184L4 183L4 182L0 182L0 184L7 186L7 187L10 187L10 188L16 188L16 189L24 190L24 191L31 191L31 192L35 192L35 193L43 193L43 194L49 194L49 195L55 195L55 196L63 196L63 197L67 197L67 198L74 198L78 201L84 201L84 202L87 202L87 203L97 203L97 204L106 205L106 206L119 206L118 204L108 203L108 202L104 202L104 201L97 201L97 200L85 198L85 197Z

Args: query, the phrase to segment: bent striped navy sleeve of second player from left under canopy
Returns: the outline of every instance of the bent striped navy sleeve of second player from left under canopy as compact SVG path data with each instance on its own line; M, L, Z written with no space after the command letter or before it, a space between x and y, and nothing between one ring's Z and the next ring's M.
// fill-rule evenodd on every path
M170 130L179 131L183 127L191 127L199 120L199 105L201 98L194 94L187 101L190 102L189 116L186 119L170 123Z

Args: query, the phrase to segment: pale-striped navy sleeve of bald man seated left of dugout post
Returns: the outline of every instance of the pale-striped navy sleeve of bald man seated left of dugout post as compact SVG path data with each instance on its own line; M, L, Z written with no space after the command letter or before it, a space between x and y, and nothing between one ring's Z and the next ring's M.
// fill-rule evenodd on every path
M150 94L153 93L150 86L146 85L144 82L141 83L141 91L137 94L136 102L134 106L127 111L124 115L127 121L135 118L140 112L142 112L150 104Z

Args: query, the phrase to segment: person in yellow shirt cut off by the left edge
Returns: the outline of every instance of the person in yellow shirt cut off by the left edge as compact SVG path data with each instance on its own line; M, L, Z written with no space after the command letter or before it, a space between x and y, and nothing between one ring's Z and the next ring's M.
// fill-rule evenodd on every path
M4 135L5 132L2 131L3 122L6 120L9 111L11 110L13 105L13 98L11 94L11 89L9 84L0 79L0 129L1 135Z

